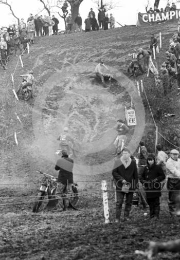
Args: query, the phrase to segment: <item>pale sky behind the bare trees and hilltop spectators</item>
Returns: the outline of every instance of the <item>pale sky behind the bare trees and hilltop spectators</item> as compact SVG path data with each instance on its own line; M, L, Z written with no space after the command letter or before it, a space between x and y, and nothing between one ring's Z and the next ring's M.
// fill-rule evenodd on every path
M43 9L43 5L40 3L39 0L8 0L8 1L12 3L12 8L14 10L14 13L19 18L24 18L25 21L27 21L29 13L35 15ZM109 0L104 0L104 2L105 1L109 1ZM115 17L116 21L122 25L136 24L137 13L145 12L145 5L148 2L148 0L118 0L118 1L112 0L112 1L119 2L119 7L111 11L108 11L107 13L109 14L113 13L113 16ZM170 2L173 1L170 0ZM149 3L150 3L149 7L153 7L154 0L149 0ZM166 4L167 4L167 0L160 0L159 8L165 8ZM95 4L93 0L84 0L80 5L80 9L79 9L83 21L88 15L90 8L94 9L97 17L98 14L97 4ZM177 4L177 8L180 8L180 4ZM47 12L43 11L41 14L44 15L47 14ZM56 16L60 21L59 29L63 30L64 21L59 16L59 14L56 14ZM8 26L9 24L12 24L14 21L15 20L13 16L10 14L10 10L8 9L8 7L6 7L5 5L0 5L0 27ZM117 23L116 23L116 27L119 27ZM83 22L83 28L84 28L84 22Z

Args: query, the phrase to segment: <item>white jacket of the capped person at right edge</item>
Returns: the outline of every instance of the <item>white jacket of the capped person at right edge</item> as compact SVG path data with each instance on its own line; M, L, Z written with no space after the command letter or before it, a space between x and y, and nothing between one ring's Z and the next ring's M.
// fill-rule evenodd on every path
M166 162L166 173L168 178L180 178L180 159L177 161L171 157Z

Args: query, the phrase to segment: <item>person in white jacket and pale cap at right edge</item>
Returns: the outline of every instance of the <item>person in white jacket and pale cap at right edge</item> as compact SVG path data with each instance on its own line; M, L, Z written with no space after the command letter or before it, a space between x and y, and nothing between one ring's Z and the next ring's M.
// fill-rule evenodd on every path
M169 212L171 216L177 213L178 197L180 195L180 159L179 152L173 149L170 158L166 162L167 189L169 191Z

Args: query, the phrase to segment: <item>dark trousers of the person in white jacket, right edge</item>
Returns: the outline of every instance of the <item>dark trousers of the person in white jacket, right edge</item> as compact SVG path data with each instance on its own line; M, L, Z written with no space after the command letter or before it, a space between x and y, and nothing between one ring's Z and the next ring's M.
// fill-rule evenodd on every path
M180 195L180 179L168 178L167 189L169 191L169 212L171 215L175 215L177 210L177 199Z

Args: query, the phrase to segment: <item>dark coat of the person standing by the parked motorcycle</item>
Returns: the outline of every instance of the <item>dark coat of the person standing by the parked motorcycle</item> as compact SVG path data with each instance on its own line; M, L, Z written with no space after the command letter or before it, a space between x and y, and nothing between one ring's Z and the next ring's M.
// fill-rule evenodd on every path
M55 170L59 171L58 182L64 185L73 183L73 165L73 159L68 158L68 156L62 156L57 161Z

